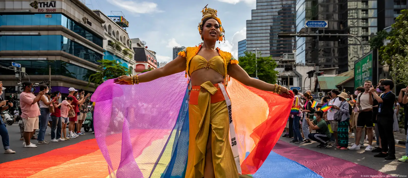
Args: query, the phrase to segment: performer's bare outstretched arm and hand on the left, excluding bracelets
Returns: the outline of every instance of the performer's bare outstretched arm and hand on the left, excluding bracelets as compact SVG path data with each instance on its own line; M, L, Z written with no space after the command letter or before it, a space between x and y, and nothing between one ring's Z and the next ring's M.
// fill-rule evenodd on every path
M183 72L184 70L186 70L186 58L179 55L176 57L176 59L170 61L164 67L160 67L152 70L151 72L147 72L146 74L139 75L139 83L150 82L160 77L165 77L179 72ZM132 84L131 77L120 76L117 79L115 79L115 83L121 85L131 85Z

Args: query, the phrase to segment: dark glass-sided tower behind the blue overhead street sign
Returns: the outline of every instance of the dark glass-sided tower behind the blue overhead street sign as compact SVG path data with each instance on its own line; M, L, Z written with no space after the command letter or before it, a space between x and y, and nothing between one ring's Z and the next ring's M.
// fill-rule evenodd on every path
M327 20L328 28L308 28L309 32L346 34L347 0L299 0L297 2L296 31L306 20ZM348 71L347 37L296 38L297 63L315 63L319 68Z

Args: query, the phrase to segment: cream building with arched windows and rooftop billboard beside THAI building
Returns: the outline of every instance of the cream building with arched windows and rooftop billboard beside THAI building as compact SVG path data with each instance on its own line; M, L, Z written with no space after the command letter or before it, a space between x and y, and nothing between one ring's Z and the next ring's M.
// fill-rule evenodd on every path
M131 74L134 74L134 66L136 62L133 60L135 52L132 48L132 41L129 39L129 35L125 28L129 26L129 22L121 16L122 21L116 20L117 16L107 16L100 10L94 10L105 23L102 24L104 29L103 47L106 50L104 52L103 59L115 60L117 63L122 63L126 68L129 68Z

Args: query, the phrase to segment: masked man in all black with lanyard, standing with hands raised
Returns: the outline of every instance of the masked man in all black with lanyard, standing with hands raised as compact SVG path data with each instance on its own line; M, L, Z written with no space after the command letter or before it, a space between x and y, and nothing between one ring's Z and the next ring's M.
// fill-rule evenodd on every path
M391 91L394 88L392 80L383 80L381 82L380 90L384 92L381 97L377 96L374 87L370 88L374 98L378 101L377 127L381 137L382 152L374 155L377 158L385 158L386 160L395 159L395 140L392 132L392 125L394 123L394 102L395 94Z

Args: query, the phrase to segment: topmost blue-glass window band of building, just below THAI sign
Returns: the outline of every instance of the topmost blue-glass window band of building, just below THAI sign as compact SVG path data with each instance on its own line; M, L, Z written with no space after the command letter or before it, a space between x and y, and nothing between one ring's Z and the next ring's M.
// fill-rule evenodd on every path
M92 41L102 47L102 38L94 33L82 28L82 25L74 22L65 15L51 14L51 18L45 18L45 14L27 15L0 15L0 26L24 26L24 25L62 25L78 35Z

